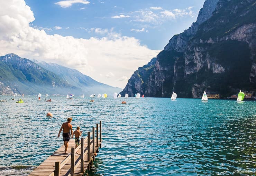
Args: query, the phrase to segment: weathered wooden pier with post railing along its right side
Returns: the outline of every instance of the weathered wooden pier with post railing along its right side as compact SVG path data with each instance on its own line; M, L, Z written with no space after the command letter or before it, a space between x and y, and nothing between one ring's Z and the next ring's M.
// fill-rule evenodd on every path
M68 151L71 147L70 154L64 154L65 146L62 145L29 176L82 176L86 170L90 170L92 161L95 160L96 153L101 148L101 143L100 121L100 126L96 124L96 137L95 127L92 127L92 132L88 131L87 137L81 138L81 144L76 149L75 140L71 139L68 143Z

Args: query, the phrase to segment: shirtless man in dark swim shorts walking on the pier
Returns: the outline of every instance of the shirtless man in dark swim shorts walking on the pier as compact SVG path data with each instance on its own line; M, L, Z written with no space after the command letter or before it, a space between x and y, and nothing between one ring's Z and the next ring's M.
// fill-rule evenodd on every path
M71 138L73 138L73 130L72 130L71 121L72 121L72 118L69 117L67 119L67 122L62 124L61 129L58 134L58 137L60 137L60 133L63 128L62 137L63 137L63 141L64 141L64 146L65 146L65 152L64 152L65 154L67 153L67 147L68 147L68 142L70 140L70 136L71 136ZM70 130L71 130L71 133L70 133Z

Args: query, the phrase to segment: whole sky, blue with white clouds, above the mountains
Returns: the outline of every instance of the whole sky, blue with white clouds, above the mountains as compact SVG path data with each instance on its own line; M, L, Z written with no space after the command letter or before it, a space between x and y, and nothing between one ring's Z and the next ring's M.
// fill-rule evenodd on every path
M1 0L0 56L58 63L113 87L196 21L204 0Z

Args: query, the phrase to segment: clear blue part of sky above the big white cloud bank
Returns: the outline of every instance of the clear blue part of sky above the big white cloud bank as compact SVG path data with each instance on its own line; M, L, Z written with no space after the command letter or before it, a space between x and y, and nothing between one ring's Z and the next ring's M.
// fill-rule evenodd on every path
M196 20L204 0L89 0L88 4L73 3L70 7L61 7L58 2L60 1L26 0L34 12L34 27L44 28L50 35L57 33L75 38L101 38L108 30L122 36L135 37L149 49L161 50L173 35L183 32ZM189 7L191 10L188 10ZM149 11L161 14L166 10L175 14L175 9L183 10L183 13L191 11L192 15L180 14L175 18L163 16L157 21L141 20ZM120 15L125 17L111 18ZM56 30L55 26L62 29ZM92 28L103 31L93 32Z

